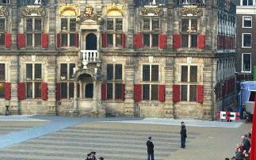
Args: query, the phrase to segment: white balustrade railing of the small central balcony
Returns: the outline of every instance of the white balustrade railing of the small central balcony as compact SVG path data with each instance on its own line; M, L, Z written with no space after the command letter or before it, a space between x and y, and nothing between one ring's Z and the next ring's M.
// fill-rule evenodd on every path
M81 50L82 61L88 63L94 63L99 60L99 53L97 50Z

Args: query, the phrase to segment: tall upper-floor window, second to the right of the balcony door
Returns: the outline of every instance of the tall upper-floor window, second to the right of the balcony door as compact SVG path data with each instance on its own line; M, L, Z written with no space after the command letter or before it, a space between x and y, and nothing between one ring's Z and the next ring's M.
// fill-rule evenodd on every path
M144 17L143 19L143 46L147 48L159 47L159 18Z

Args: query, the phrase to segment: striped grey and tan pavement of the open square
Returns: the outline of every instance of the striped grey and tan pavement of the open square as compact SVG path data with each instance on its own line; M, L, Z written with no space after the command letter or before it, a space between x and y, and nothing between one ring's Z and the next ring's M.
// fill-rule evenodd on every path
M88 119L57 116L32 118L38 121L29 120L26 124L19 120L13 121L9 126L13 128L13 132L0 135L0 143L5 143L2 140L7 135L9 141L15 137L21 138L19 142L14 140L15 143L8 143L6 147L2 147L0 159L76 160L84 159L86 153L95 150L98 156L102 155L106 160L143 160L147 155L145 145L147 136L151 135L155 143L156 160L221 160L234 152L235 144L239 142L241 134L250 130L250 124L224 123L225 128L216 128L214 126L220 125L220 122L212 124L207 121L186 120L189 138L186 143L187 148L182 150L179 142L179 123L173 125L180 120ZM10 123L8 120L0 120L0 131L4 131L5 122ZM194 127L193 124L204 128ZM24 130L16 131L18 126L21 126L21 129L24 127ZM32 126L33 128L29 128ZM30 133L31 131L36 134ZM14 137L11 138L10 135Z

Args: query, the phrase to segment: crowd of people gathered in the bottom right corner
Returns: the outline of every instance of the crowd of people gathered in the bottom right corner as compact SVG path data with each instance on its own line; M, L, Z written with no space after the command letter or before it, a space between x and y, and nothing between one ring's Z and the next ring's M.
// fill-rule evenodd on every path
M250 159L250 141L251 132L241 137L241 143L235 147L235 155L231 158L234 160L249 160ZM225 158L229 160L229 158Z

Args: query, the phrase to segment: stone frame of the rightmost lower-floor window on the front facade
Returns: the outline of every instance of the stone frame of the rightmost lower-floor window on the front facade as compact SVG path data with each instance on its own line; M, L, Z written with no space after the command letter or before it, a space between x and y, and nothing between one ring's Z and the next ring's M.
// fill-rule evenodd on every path
M188 70L187 70L187 82L181 82L181 67L182 66L186 66L186 67L188 67ZM191 67L192 66L195 66L195 67L197 67L197 82L190 82L190 69L191 69ZM182 86L187 86L186 87L186 91L185 91L185 93L186 93L186 101L183 101L183 102L197 102L197 88L196 88L196 93L194 93L194 95L196 96L196 98L193 100L193 101L190 101L190 87L191 86L197 86L197 85L199 85L200 84L200 66L198 66L196 63L191 63L191 64L188 64L188 63L181 63L180 64L180 72L179 72L179 74L180 74L180 78L179 78L179 83L180 83L180 85L181 85L181 101L183 101L182 100Z

